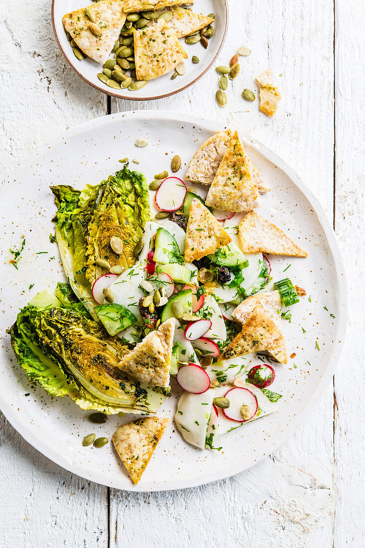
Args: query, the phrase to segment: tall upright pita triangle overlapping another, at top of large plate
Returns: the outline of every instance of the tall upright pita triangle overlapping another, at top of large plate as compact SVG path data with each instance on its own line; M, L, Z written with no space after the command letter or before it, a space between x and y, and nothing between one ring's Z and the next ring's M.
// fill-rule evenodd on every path
M206 199L207 206L244 212L260 206L259 192L250 175L238 133L235 132L219 164Z

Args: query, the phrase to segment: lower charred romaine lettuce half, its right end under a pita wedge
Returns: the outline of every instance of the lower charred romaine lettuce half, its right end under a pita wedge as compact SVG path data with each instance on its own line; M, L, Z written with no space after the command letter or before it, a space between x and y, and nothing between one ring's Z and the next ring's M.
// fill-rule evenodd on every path
M30 381L52 396L70 396L82 409L156 412L163 391L153 391L117 368L128 346L89 316L68 284L59 284L56 294L59 298L49 290L38 294L9 329L15 356Z

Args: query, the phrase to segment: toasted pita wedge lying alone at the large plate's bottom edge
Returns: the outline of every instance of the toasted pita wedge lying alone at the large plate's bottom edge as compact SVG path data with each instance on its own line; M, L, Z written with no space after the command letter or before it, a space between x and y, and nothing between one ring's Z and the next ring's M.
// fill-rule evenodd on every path
M113 434L112 442L122 463L136 485L149 464L153 451L162 437L170 419L147 416L123 424Z

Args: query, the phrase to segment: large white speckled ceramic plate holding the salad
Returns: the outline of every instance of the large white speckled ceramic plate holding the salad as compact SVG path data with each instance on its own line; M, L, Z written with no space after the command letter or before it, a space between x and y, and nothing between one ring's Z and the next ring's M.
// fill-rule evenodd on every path
M288 366L276 367L277 379L272 389L284 395L280 412L222 437L224 448L220 453L185 443L172 421L135 487L111 443L101 449L83 448L81 444L92 431L110 438L121 419L113 416L105 425L92 425L88 413L69 398L51 399L39 387L31 388L16 364L5 329L33 295L44 287L55 287L64 278L58 249L49 241L55 213L49 186L95 184L119 169L118 159L125 156L138 159L139 165L131 162L131 167L152 180L155 173L168 169L170 159L179 153L184 166L179 173L184 175L197 146L219 129L223 129L219 122L170 112L126 112L98 118L42 147L2 186L5 219L0 248L1 409L33 447L92 481L150 491L197 486L245 470L292 435L312 412L333 376L346 325L346 282L334 232L322 207L293 170L244 133L241 137L250 156L272 184L260 213L287 230L309 252L307 259L272 257L274 279L289 276L311 298L311 302L302 298L293 307L292 323L285 322L288 355L295 352L296 356L289 359ZM147 139L149 145L136 148L134 142L138 138ZM23 236L26 246L19 270L15 270L9 264L9 248L19 246ZM173 389L174 395L164 402L159 416L173 417L178 394L175 384Z

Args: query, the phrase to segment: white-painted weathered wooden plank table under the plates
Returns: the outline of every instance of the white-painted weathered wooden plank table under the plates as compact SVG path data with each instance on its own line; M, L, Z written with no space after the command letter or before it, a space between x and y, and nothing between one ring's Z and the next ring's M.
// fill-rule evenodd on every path
M1 165L10 171L56 133L110 112L189 111L240 125L297 170L333 220L351 305L333 384L305 425L264 461L224 481L175 492L127 493L78 478L24 442L1 415L0 546L365 546L363 2L230 0L230 8L218 64L240 45L252 54L241 58L235 93L227 92L221 109L214 69L167 99L107 99L66 65L48 0L2 2ZM254 77L266 68L283 92L273 119L239 94L255 90Z

